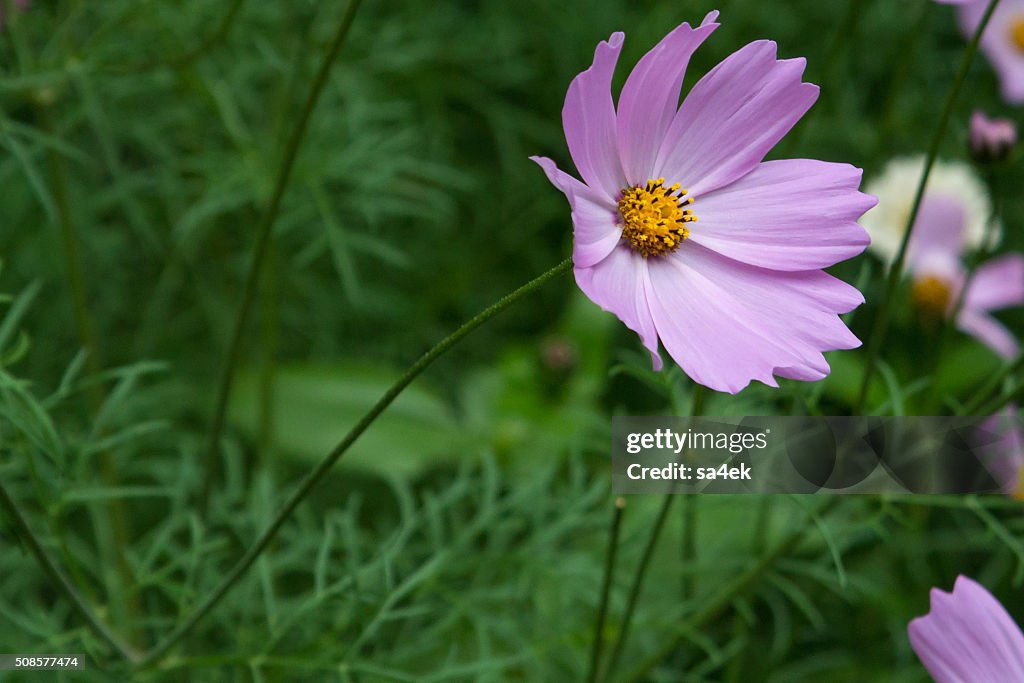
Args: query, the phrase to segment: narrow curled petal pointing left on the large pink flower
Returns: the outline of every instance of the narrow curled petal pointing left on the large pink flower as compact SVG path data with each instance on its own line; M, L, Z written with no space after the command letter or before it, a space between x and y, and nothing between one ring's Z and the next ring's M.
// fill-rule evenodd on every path
M615 224L618 209L606 197L595 193L571 175L561 171L546 157L530 157L544 169L548 180L562 190L572 210L572 263L586 268L596 265L622 240Z

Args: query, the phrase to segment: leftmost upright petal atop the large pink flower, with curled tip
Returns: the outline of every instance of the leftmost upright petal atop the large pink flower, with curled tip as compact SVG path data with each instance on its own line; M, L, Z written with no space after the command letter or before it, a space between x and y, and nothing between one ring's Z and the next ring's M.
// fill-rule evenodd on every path
M611 34L594 51L594 63L569 84L562 108L562 127L572 163L588 185L614 198L626 185L615 147L615 106L611 75L625 36Z

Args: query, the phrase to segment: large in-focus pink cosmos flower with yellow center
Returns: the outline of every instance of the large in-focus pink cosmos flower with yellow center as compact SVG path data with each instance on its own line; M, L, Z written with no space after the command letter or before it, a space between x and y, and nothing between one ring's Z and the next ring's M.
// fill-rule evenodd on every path
M624 36L598 44L562 109L584 181L531 159L571 207L577 284L640 336L655 370L660 339L687 375L719 391L777 386L775 375L819 380L829 371L822 351L860 344L838 313L863 302L821 268L864 250L856 221L874 199L847 164L762 162L818 95L801 81L805 60L776 59L771 41L734 52L679 104L690 55L717 17L666 36L630 74L617 109L611 77Z

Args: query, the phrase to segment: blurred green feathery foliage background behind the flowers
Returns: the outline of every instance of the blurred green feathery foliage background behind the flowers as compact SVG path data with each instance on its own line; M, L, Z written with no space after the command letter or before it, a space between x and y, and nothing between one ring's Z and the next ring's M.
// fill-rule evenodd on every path
M7 7L0 477L116 629L140 649L159 640L401 369L569 254L564 198L527 160L572 168L569 81L623 30L617 88L668 31L713 8L722 27L688 84L771 38L822 86L773 157L870 177L927 147L964 45L952 11L928 0L366 0L274 224L203 515L204 438L255 227L345 3ZM966 156L976 106L1021 121L983 57L944 158ZM997 178L1007 250L1024 248L1021 181L1020 164ZM834 271L865 293L850 321L864 338L881 265L862 256ZM1020 310L1000 318L1024 329ZM966 338L935 357L935 334L897 306L873 410L948 411L998 367ZM824 382L712 396L708 410L848 413L861 356L831 354ZM689 400L678 369L651 373L635 336L562 278L408 390L156 668L129 674L0 519L0 651L88 652L88 670L62 680L582 680L611 516L610 416ZM906 622L961 572L1024 614L1012 502L858 499L809 524L816 502L677 503L615 680L923 681ZM612 641L658 504L629 502ZM685 558L684 510L697 539Z

